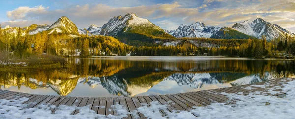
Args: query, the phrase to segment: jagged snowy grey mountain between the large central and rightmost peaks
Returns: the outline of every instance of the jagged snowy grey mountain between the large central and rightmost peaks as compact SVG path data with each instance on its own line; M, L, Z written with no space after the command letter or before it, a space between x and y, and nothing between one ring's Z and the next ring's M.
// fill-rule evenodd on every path
M204 23L196 22L191 25L181 24L176 30L171 30L168 33L176 38L182 37L203 37L210 38L213 33L216 33L220 27L206 26Z

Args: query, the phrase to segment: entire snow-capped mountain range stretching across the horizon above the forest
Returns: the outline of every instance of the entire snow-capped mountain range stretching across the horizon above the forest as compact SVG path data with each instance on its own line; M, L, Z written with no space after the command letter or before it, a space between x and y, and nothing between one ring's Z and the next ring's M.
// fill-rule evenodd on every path
M10 34L17 34L19 28L7 25L3 30ZM21 28L21 30L21 35L25 35L26 30L29 31L29 35L34 35L43 31L47 31L48 34L53 32L73 35L86 34L84 29L78 29L77 26L65 16L59 18L50 26L46 24L33 24L29 27ZM215 39L256 39L266 36L266 39L269 41L271 39L285 37L286 34L295 36L294 33L291 33L279 25L266 22L261 18L257 18L252 22L239 22L232 27L206 26L201 22L190 25L181 24L177 29L168 31L151 23L148 19L140 18L130 13L124 16L115 16L102 27L92 24L87 28L87 31L92 35L113 36L119 40L137 40L142 38L142 36L163 38L203 37Z

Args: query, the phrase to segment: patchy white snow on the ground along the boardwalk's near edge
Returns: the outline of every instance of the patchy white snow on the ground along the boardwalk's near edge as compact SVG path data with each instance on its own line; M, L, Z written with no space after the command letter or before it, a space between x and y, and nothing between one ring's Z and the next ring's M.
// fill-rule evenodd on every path
M285 78L285 80L289 80ZM266 85L271 85L267 83ZM264 86L266 86L264 85ZM254 85L255 86L255 85ZM225 105L224 103L212 103L206 107L193 106L194 109L190 111L173 111L167 110L167 105L159 104L158 102L151 102L151 106L148 107L145 104L143 107L137 108L137 111L129 113L123 105L114 105L113 108L117 111L116 116L113 115L99 115L95 114L93 110L89 109L89 106L76 107L61 105L55 112L51 114L51 109L54 106L39 105L38 108L23 109L26 104L21 104L27 98L21 98L18 100L0 100L0 119L120 119L127 117L128 114L132 114L135 118L139 118L136 114L138 112L144 114L148 118L161 119L170 117L170 119L194 119L198 116L200 119L294 119L295 117L295 80L290 81L287 84L283 84L283 92L286 93L283 97L269 96L260 92L250 92L249 95L242 94L228 94L226 95L230 100L236 100L236 104ZM274 89L269 89L269 92L274 93ZM250 88L245 88L250 89ZM259 94L259 95L256 95ZM22 110L20 110L22 109ZM79 109L77 115L70 115L75 109ZM162 117L159 110L164 111L167 115ZM193 115L193 114L194 115Z

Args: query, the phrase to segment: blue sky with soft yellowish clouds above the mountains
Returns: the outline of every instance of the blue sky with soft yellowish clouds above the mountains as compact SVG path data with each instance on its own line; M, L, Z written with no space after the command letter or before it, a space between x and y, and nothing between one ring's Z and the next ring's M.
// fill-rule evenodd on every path
M51 25L61 16L78 28L101 27L112 17L134 13L163 29L203 22L231 27L262 18L295 33L295 0L0 0L2 27Z

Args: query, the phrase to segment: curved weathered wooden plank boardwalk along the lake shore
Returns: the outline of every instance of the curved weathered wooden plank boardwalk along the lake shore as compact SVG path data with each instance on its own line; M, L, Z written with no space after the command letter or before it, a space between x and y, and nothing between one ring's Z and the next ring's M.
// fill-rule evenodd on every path
M186 92L186 93L178 93L178 94L167 94L167 95L153 95L153 96L135 96L135 97L69 97L69 96L51 96L51 95L37 95L37 94L28 94L28 93L20 93L13 92L7 90L0 90L0 99L16 99L27 97L28 100L23 102L24 104L28 104L27 108L36 108L40 104L48 104L55 105L59 108L60 105L75 105L78 107L90 105L89 108L94 110L97 114L102 115L116 115L116 111L111 107L115 104L124 105L128 111L136 110L136 108L142 106L142 103L146 103L150 106L150 102L158 101L160 104L168 105L167 110L172 112L173 110L190 110L193 106L207 106L214 102L224 102L225 104L235 104L235 100L229 101L229 99L220 94L221 92L226 93L236 93L238 95L247 95L251 92L261 92L271 95L267 91L274 87L280 86L282 87L282 83L286 83L288 81L295 80L293 78L289 78L290 80L285 80L285 78L278 78L269 81L264 81L260 83L255 83L255 85L264 85L271 84L266 88L260 88L251 86L254 84L242 85L242 86L234 86L228 88L219 88L219 89L210 89L203 90L197 92ZM245 89L245 87L251 87L251 90ZM278 91L280 91L278 89ZM241 93L242 92L242 93ZM274 94L272 96L281 95ZM104 107L103 107L104 106ZM52 109L52 113L55 113L57 108ZM165 111L160 111L163 116L165 116ZM75 110L72 114L79 113L79 110ZM145 118L145 116L141 113L137 114L140 118ZM126 119L134 119L133 115L128 115Z

